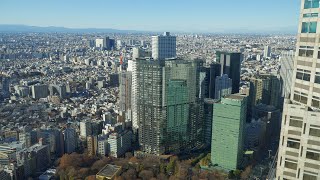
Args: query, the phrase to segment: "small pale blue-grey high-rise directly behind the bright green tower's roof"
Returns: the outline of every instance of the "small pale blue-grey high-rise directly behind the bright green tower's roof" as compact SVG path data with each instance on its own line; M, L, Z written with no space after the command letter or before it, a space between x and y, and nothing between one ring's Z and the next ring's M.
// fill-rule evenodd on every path
M230 95L232 92L232 79L227 74L216 77L215 99Z

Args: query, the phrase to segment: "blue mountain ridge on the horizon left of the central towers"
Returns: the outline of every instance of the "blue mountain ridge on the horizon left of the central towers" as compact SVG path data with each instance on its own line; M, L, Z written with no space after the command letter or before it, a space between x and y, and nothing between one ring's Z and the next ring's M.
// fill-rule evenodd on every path
M35 32L35 33L148 33L147 31L136 30L119 30L109 28L65 28L65 27L39 27L28 25L11 25L0 24L0 32L6 33L21 33L21 32Z

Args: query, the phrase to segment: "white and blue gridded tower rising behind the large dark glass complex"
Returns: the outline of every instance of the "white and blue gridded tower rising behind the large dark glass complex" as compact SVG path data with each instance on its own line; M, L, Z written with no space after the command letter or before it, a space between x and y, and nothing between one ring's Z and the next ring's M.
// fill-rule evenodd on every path
M176 57L176 41L176 36L171 36L169 32L162 36L152 36L152 58L164 60Z

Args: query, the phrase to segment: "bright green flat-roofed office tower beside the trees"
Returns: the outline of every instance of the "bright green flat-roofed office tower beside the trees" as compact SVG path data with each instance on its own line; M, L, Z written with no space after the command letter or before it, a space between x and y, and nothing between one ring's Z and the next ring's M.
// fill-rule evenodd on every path
M213 109L211 162L226 171L235 170L243 155L247 97L228 95Z

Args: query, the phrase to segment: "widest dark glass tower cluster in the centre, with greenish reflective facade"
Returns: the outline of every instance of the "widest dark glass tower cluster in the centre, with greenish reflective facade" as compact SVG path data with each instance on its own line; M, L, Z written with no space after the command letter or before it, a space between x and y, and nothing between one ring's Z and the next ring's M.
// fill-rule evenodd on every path
M178 153L201 140L201 61L137 59L133 72L133 118L141 150Z

